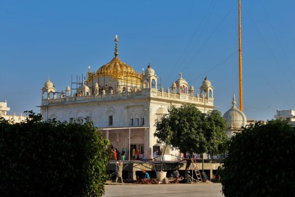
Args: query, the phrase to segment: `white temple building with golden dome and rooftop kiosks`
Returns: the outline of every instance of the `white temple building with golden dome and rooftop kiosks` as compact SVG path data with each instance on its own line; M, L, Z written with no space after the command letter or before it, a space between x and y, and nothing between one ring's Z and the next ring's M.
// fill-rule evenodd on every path
M42 88L42 117L81 123L87 119L114 148L125 148L127 159L132 157L133 149L140 150L140 158L152 158L153 146L158 145L153 136L155 120L172 105L192 103L202 112L213 110L213 87L206 76L197 93L180 73L170 88L158 89L158 76L152 66L149 64L140 73L123 63L118 58L117 36L115 41L115 57L96 71L91 72L89 67L87 79L75 92L67 86L58 98L53 82L46 81ZM177 151L169 153L178 156Z

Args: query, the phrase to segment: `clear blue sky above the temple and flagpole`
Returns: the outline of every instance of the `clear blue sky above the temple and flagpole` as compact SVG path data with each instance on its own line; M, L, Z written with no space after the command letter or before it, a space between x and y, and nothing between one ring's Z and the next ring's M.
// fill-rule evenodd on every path
M224 113L238 98L237 8L237 0L0 0L0 100L11 113L38 111L48 76L64 90L71 75L113 58L118 34L119 58L138 71L150 62L165 90L180 71L195 89L207 74ZM242 0L247 118L295 107L294 10L294 0Z

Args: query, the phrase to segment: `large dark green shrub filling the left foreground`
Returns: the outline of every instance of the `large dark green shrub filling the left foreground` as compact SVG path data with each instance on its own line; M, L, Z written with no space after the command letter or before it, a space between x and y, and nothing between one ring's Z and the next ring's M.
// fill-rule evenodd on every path
M1 196L102 196L108 141L92 125L0 120Z

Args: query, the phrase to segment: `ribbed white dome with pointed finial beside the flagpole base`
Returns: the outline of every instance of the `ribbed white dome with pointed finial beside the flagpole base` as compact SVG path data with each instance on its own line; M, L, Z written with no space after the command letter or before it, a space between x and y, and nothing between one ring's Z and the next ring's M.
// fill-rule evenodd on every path
M223 119L226 121L227 128L241 129L247 124L247 118L245 114L236 108L236 98L234 95L233 106L223 115Z

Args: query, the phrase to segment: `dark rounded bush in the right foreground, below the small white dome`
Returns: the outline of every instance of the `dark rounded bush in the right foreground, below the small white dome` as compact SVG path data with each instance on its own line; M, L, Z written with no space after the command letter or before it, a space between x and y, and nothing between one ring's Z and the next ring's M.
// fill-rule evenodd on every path
M221 172L226 197L293 197L295 129L282 120L245 128L229 142Z

